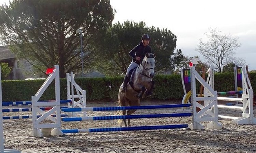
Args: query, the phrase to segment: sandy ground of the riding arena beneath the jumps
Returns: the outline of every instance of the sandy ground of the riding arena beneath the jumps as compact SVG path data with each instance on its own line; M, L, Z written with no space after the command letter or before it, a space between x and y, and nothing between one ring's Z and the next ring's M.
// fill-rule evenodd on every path
M141 105L174 104L170 101L142 101ZM116 106L117 102L87 102L87 107ZM6 107L4 107L6 108ZM134 114L175 113L177 108L137 110ZM256 113L254 111L254 113ZM88 116L114 112L87 112ZM241 111L222 110L219 114L240 117ZM4 113L4 116L31 115L31 112ZM5 148L22 153L256 153L256 125L235 125L219 120L223 129L148 130L76 133L36 138L30 136L32 119L4 120ZM191 117L131 119L132 126L190 124ZM208 122L203 122L207 125ZM62 122L62 129L124 126L117 120Z

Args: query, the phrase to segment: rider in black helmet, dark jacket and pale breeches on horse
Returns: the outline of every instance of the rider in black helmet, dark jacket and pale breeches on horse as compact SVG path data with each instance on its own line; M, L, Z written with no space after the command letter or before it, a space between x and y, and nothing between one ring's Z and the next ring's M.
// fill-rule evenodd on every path
M126 84L130 81L129 80L129 72L130 70L136 68L137 66L140 65L142 62L143 58L145 57L146 53L152 53L151 47L148 45L150 42L150 36L148 34L144 34L141 37L141 42L137 46L135 46L130 52L129 56L131 56L133 59L131 61L131 64L127 68L127 72L123 81L123 85L121 87L121 92L126 92ZM154 95L152 93L152 88L150 91L147 92L147 96Z

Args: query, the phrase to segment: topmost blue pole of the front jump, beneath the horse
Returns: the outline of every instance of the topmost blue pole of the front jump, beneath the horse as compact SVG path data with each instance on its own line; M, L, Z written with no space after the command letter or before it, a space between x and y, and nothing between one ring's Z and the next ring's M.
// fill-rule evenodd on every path
M151 105L151 106L122 106L122 107L87 107L87 108L63 108L64 112L81 112L81 111L123 111L132 109L162 109L190 107L191 104L172 104L172 105Z

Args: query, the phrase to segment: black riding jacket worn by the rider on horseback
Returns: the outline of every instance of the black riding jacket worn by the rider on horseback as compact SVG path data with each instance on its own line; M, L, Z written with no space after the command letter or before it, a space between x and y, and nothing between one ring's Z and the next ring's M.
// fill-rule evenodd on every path
M135 46L130 52L129 56L131 56L133 59L132 61L140 64L145 57L146 53L152 53L150 46L144 46L142 42L140 42L139 45ZM140 57L140 61L136 60L136 56Z

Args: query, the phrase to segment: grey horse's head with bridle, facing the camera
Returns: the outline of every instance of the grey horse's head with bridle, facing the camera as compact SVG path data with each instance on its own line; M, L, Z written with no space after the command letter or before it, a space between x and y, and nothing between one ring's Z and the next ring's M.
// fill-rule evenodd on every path
M155 76L155 72L154 72L155 63L156 63L155 57L156 57L156 54L146 53L146 56L142 61L144 71L146 71L145 73L150 78L154 78Z

